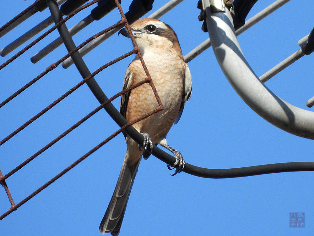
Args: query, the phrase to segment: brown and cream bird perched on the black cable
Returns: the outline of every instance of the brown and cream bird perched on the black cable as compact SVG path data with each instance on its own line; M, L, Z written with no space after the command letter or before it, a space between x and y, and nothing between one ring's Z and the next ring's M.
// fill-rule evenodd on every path
M160 144L175 154L176 173L184 168L184 160L177 150L167 144L166 135L181 117L185 102L192 94L192 77L185 63L176 33L164 22L156 19L139 19L130 25L139 51L149 70L164 109L133 124L144 136L143 148L124 133L127 151L116 188L103 217L99 232L118 235L127 201L141 157L147 159L153 144ZM130 37L126 28L119 34ZM125 73L123 89L146 78L143 66L135 56ZM158 107L152 88L144 83L121 96L120 113L132 121ZM168 166L168 168L170 168ZM175 174L176 174L175 173Z

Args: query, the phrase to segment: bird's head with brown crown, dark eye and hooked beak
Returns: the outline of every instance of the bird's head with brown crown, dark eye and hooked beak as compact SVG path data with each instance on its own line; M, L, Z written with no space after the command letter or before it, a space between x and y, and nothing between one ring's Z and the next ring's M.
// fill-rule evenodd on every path
M146 50L171 50L182 55L178 38L173 29L164 22L152 18L139 19L130 25L135 41L143 54ZM119 34L130 37L126 28Z

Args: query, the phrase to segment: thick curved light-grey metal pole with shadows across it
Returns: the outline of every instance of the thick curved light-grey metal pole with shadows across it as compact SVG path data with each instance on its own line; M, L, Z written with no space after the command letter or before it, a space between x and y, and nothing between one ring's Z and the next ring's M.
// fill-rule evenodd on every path
M293 106L270 91L246 61L232 24L230 12L211 13L203 0L206 23L216 58L226 78L258 115L284 131L314 139L314 112Z

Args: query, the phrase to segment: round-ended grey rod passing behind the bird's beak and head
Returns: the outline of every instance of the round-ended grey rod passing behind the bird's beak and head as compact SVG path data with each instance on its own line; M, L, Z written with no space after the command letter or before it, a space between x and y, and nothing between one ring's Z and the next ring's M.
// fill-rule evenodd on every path
M167 13L169 10L171 10L175 5L181 3L183 0L172 0L168 3L166 3L163 7L159 8L157 11L155 11L153 14L151 14L149 17L151 18L156 18L157 14L162 16L165 13ZM173 7L172 7L173 6ZM161 9L161 10L160 10ZM143 16L143 15L142 15ZM156 18L157 19L157 18ZM122 27L121 27L122 28ZM79 53L84 56L85 54L89 53L91 50L93 50L94 48L96 48L100 43L104 42L107 38L111 37L113 34L115 34L116 32L118 32L120 29L116 28L115 30L108 32L107 34L94 39L92 42L90 42L89 44L87 44L84 48L79 50ZM67 69L70 65L73 64L73 60L71 58L66 59L64 62L62 62L62 67L64 69Z

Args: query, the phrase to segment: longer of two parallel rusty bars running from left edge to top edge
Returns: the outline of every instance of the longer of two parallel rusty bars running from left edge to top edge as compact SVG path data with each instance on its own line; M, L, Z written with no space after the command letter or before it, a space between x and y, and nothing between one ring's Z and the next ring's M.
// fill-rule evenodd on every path
M89 3L86 3L84 6L76 9L75 11L73 11L71 14L68 14L67 17L65 17L63 20L60 20L60 22L58 22L56 25L52 26L48 31L46 31L45 33L43 33L40 37L38 37L37 39L35 39L33 42L31 42L29 45L27 45L25 48L23 48L21 51L19 51L18 53L16 53L13 57L11 57L10 59L8 59L5 63L3 63L2 65L0 65L0 70L3 69L3 67L7 66L9 63L11 63L12 61L14 61L16 58L18 58L20 55L22 55L24 52L26 52L28 49L30 49L31 47L33 47L37 42L41 41L44 37L46 37L48 34L50 34L52 31L54 31L55 29L57 29L57 27L59 27L60 25L62 25L64 22L66 22L67 20L69 20L71 17L73 17L75 14L77 14L78 12L80 12L81 10L93 5L94 3L99 2L100 0L93 0ZM1 104L0 104L1 107Z

